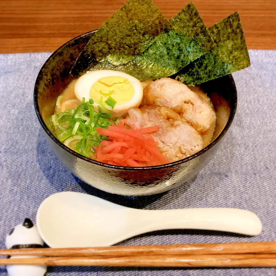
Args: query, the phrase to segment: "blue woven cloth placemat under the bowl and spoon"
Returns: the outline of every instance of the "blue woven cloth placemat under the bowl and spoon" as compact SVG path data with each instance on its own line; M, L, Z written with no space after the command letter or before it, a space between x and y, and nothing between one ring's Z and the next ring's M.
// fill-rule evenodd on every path
M97 190L70 173L52 152L34 111L36 76L50 53L0 55L0 248L25 217L35 221L39 204L59 191L89 193L134 208L233 207L255 212L257 237L198 230L147 233L120 244L276 241L276 51L251 50L251 66L233 74L238 107L226 137L208 165L185 185L147 197ZM6 276L5 267L0 275ZM55 267L50 276L276 275L273 268L182 269Z

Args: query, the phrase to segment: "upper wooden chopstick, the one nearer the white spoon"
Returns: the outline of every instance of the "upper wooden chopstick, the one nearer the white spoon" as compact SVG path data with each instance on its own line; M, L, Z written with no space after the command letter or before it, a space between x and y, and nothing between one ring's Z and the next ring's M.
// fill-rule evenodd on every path
M226 244L175 244L146 246L108 246L94 248L24 248L2 249L0 255L40 255L63 257L120 257L158 255L276 254L276 242Z

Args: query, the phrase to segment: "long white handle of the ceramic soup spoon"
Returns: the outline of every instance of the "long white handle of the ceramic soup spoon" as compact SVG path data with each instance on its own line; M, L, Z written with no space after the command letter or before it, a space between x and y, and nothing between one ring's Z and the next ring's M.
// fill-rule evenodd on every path
M143 210L136 219L144 226L143 233L163 229L203 229L254 236L262 231L262 223L256 214L235 208Z

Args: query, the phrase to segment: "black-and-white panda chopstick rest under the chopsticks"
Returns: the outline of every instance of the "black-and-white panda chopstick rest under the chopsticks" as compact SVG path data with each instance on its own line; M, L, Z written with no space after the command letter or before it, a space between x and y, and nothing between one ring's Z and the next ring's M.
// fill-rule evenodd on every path
M42 248L44 241L41 239L37 226L29 218L23 224L16 225L6 236L8 249ZM16 255L9 258L39 258L42 256ZM9 276L45 276L47 267L43 265L7 265Z

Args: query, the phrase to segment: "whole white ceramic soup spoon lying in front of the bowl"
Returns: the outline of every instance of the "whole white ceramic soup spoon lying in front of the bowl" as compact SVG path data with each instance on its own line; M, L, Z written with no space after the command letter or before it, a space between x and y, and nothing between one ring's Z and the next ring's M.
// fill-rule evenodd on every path
M110 246L161 229L219 230L258 235L259 218L233 208L140 210L85 193L60 192L46 198L37 211L37 229L50 247Z

